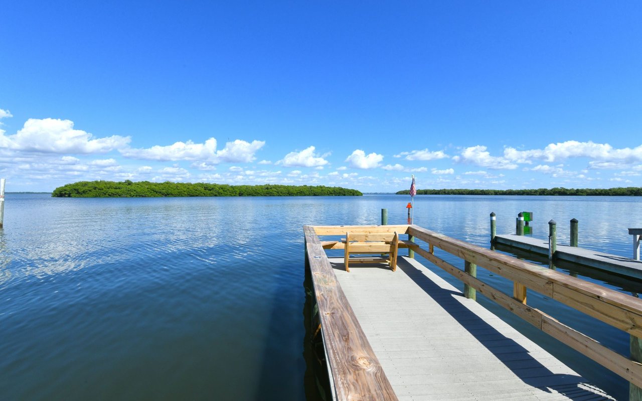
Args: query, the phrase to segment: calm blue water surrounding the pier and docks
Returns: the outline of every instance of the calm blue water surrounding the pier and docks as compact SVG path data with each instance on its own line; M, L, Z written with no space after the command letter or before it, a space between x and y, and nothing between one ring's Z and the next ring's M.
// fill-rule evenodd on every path
M0 230L0 399L315 398L305 384L302 226L378 224L382 208L388 223L405 223L407 202L394 195L7 194ZM498 214L498 233L508 233L522 210L534 212L535 237L545 238L548 220L555 219L559 243L568 243L568 221L577 218L580 246L616 255L630 256L627 228L642 226L639 198L528 196L417 196L415 223L487 246L489 213ZM478 275L512 291L483 269ZM615 283L609 286L618 288ZM626 398L624 380L479 301ZM620 330L534 293L528 303L628 354L629 337Z

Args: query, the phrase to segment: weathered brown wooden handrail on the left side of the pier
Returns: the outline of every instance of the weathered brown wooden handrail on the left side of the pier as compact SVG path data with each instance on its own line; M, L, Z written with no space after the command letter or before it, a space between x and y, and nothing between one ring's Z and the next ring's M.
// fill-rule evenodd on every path
M303 231L306 239L306 258L323 328L327 363L334 383L334 397L342 401L397 400L372 346L336 280L317 236L317 232L322 232L323 235L345 234L345 231L349 230L345 227L350 226L333 226L341 230L336 233L333 228L328 227L304 226ZM320 230L315 232L315 228Z

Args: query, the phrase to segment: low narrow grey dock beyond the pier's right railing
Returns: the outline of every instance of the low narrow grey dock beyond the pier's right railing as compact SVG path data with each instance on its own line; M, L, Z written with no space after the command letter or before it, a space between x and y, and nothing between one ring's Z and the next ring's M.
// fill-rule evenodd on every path
M548 241L526 235L496 235L494 243L540 255L548 255ZM557 244L554 260L565 260L642 280L642 261L628 257L596 252L586 248L578 248L577 246Z

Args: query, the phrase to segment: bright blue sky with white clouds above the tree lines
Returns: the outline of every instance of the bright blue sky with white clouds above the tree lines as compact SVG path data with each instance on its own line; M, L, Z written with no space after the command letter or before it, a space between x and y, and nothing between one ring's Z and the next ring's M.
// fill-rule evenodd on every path
M639 1L4 1L0 175L642 185Z

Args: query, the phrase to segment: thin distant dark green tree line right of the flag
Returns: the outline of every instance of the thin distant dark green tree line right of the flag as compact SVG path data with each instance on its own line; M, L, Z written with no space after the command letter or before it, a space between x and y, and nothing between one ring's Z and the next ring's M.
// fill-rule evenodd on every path
M397 192L408 195L408 189ZM539 188L539 189L419 189L417 195L557 195L557 196L642 196L642 187Z

